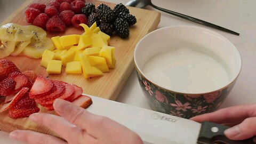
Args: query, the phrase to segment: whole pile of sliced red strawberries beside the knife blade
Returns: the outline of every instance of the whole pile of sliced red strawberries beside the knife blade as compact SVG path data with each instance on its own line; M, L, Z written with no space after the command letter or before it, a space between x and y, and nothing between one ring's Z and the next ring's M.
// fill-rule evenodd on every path
M81 87L37 77L33 71L21 73L11 61L0 60L0 113L9 110L11 118L37 113L40 110L37 103L46 110L54 110L52 105L57 98L89 107L92 100L82 93Z

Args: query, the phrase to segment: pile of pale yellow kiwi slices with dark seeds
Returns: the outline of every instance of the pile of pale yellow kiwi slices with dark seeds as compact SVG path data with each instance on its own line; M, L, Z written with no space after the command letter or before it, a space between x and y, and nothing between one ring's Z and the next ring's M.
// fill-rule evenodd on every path
M53 50L54 44L46 32L36 26L20 26L7 23L0 27L0 59L9 55L25 54L30 58L42 58L44 50Z

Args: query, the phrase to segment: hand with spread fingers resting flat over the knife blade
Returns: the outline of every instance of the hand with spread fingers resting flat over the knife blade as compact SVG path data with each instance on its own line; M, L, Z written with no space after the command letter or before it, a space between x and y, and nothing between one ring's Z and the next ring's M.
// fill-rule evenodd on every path
M63 141L52 135L37 133L33 131L16 130L10 133L10 138L25 141L30 144L130 144L143 143L139 135L127 127L103 116L98 116L75 106L65 100L54 101L55 111L62 117L36 113L29 119L38 124L48 127L65 139Z

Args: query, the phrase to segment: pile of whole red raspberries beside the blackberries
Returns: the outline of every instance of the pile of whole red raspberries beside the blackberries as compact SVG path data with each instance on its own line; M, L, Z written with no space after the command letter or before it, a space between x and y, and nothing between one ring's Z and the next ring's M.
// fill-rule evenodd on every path
M33 3L25 12L26 20L51 32L64 32L70 25L81 28L79 24L87 24L87 17L81 11L84 6L84 0L55 0L47 6Z

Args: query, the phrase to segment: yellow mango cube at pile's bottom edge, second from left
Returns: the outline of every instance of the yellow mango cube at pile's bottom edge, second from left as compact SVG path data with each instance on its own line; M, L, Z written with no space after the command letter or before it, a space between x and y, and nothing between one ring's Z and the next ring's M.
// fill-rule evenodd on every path
M66 66L67 74L82 74L82 67L80 61L71 61Z

